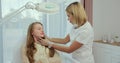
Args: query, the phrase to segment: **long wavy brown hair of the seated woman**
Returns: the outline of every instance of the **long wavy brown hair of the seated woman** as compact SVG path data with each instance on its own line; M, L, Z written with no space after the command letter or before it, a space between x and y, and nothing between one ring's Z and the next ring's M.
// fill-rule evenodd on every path
M35 40L33 38L32 32L33 27L35 24L40 24L40 22L33 22L29 25L28 32L27 32L27 41L26 41L26 55L30 63L34 63L34 54L36 53L37 49L35 48ZM48 48L48 47L46 47ZM54 48L49 49L49 56L53 57L55 53Z

